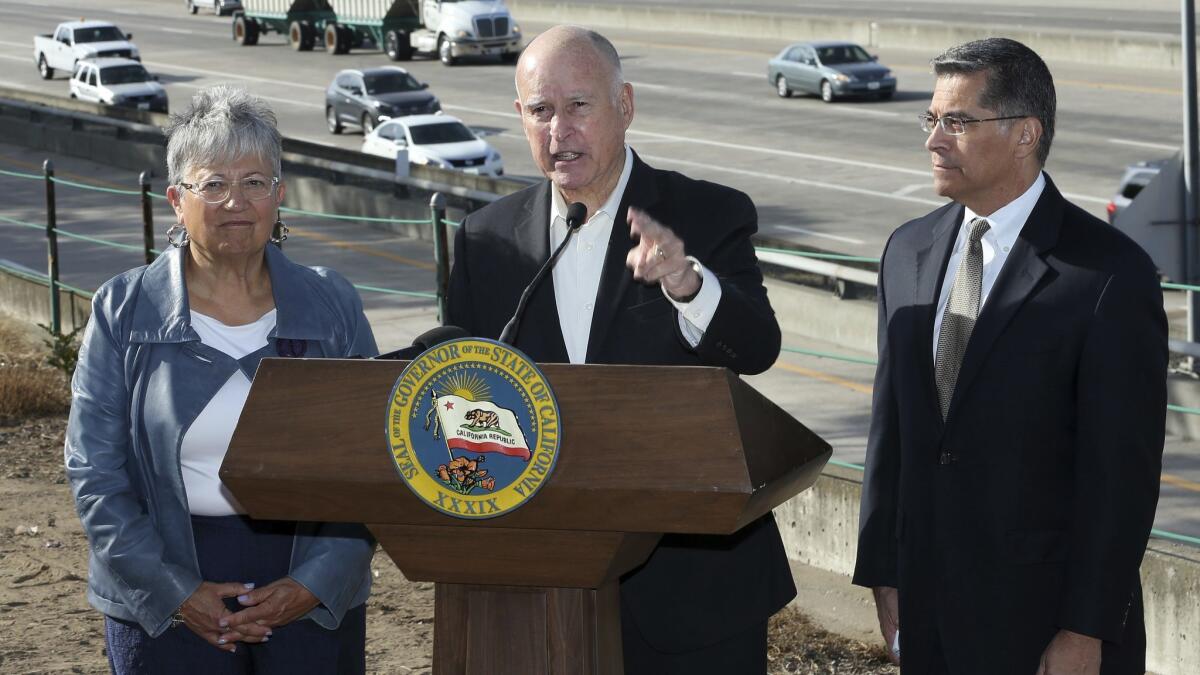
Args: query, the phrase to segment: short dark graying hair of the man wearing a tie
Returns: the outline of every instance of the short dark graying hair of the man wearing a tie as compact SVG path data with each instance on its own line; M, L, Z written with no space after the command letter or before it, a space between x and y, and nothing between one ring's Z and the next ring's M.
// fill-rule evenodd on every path
M1038 162L1045 166L1054 141L1054 77L1033 49L1007 37L988 37L950 47L931 64L937 77L985 72L979 104L998 117L1028 115L1042 121Z

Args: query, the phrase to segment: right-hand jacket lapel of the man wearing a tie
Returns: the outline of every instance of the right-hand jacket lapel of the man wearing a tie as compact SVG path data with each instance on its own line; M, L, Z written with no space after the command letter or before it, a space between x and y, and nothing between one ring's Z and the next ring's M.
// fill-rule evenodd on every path
M988 294L988 301L971 333L967 351L962 356L962 366L959 369L959 380L954 386L954 398L950 400L952 417L979 374L996 339L1049 271L1050 267L1043 256L1058 240L1063 203L1062 195L1046 177L1045 190L1030 213L1028 220L1025 221L1021 234L1008 253L1008 259L1004 261L1004 267L1000 270L1000 276L996 277L996 283Z

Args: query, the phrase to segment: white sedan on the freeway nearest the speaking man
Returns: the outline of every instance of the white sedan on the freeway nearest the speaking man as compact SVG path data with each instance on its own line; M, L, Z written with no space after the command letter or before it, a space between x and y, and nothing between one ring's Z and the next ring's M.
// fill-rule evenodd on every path
M408 150L408 161L493 178L504 175L504 162L494 148L450 115L408 115L379 124L362 139L368 155L396 159Z

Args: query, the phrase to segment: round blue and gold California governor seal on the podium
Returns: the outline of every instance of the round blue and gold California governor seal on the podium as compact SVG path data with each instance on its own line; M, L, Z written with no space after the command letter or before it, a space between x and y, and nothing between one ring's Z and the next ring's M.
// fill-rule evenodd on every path
M550 480L560 440L546 377L494 340L431 347L404 368L388 404L396 472L455 518L496 518L526 503Z

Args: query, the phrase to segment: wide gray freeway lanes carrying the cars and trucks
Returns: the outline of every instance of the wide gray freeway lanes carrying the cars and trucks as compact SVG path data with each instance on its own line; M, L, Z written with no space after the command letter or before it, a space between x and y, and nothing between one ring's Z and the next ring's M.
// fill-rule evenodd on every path
M134 34L173 107L197 89L236 83L272 103L284 135L360 145L356 132L331 136L325 130L323 91L340 68L388 64L383 54L294 53L277 35L242 48L229 38L228 17L188 16L181 2L127 0L109 7L86 0L6 1L0 6L0 85L66 96L62 77L38 78L32 35L80 16L112 19ZM524 28L533 34L545 26ZM920 53L881 50L900 78L901 90L892 101L824 104L774 95L764 70L784 46L779 41L606 32L634 84L634 149L652 165L744 190L758 205L764 234L874 256L895 226L943 203L930 189L916 114L932 89L928 60L946 46ZM446 68L415 60L406 67L430 83L448 113L488 135L510 175L535 179L512 110L512 66ZM1051 68L1058 82L1060 131L1048 171L1080 205L1103 215L1126 165L1169 155L1180 144L1178 77L1054 62Z

